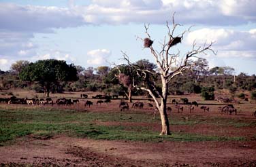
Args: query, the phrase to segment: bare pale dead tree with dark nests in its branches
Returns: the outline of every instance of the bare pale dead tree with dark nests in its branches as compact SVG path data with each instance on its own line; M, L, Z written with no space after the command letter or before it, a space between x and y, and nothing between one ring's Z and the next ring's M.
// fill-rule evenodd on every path
M149 71L148 69L142 69L138 67L136 64L133 64L129 61L129 56L125 52L123 52L123 57L127 61L130 67L133 67L132 69L137 73L138 77L140 77L143 81L142 83L138 84L135 83L133 79L133 88L137 88L138 90L145 90L147 91L150 96L153 97L155 100L155 106L157 110L160 113L161 116L161 126L162 130L160 135L169 135L170 132L170 124L167 117L167 92L168 92L168 83L177 75L182 74L187 69L190 69L190 65L188 60L191 57L195 57L198 54L206 54L206 51L212 50L212 44L204 46L197 46L195 41L192 45L192 49L185 54L185 57L181 62L178 62L178 58L180 57L180 52L174 54L171 52L171 48L174 45L177 45L178 43L181 43L183 39L183 35L185 35L186 32L189 32L189 29L187 31L184 31L182 34L174 36L174 31L180 24L176 24L174 22L174 15L172 16L172 29L170 29L170 24L167 22L167 37L164 37L163 42L161 43L161 51L157 52L157 50L153 47L153 40L151 40L150 34L148 33L148 25L144 25L144 28L146 30L146 38L142 39L141 37L138 37L138 39L141 39L142 42L144 42L144 48L148 48L155 58L155 62L157 63L158 71ZM215 54L215 53L214 53ZM161 90L159 90L155 84L155 81L152 79L150 80L150 76L159 76L161 77ZM159 96L159 98L157 98Z

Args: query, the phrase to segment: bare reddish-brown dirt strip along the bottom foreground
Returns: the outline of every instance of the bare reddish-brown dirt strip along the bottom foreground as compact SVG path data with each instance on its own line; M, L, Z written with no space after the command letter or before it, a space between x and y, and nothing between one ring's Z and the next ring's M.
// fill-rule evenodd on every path
M256 166L256 141L95 141L28 137L0 147L1 166Z

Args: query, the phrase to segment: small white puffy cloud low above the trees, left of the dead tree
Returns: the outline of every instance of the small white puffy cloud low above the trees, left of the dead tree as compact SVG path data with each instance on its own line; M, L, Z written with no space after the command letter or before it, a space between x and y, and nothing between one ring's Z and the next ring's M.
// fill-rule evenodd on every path
M87 52L87 55L89 56L89 59L87 60L87 63L90 65L103 65L106 64L106 60L111 55L110 50L106 49L98 49L98 50L91 50Z

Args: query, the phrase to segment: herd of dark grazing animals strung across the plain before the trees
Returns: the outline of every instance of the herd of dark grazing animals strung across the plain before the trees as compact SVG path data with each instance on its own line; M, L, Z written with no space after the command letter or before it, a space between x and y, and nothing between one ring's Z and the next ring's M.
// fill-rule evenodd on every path
M81 94L80 96L81 98L88 98L87 94ZM100 95L97 94L96 96L93 96L92 98L96 98L96 105L99 106L101 104L107 104L111 103L112 100L114 99L118 99L116 96L107 96L107 95ZM142 103L140 101L137 101L135 103L131 103L131 108L129 107L129 103L121 100L121 103L118 105L120 111L129 111L130 109L144 109L144 106L146 105L147 108L149 107L149 109L154 109L154 117L155 114L157 113L157 108L154 108L154 105L151 104L151 102L153 102L152 99L148 99L149 103ZM168 106L167 107L167 113L171 113L174 111L177 111L177 113L182 113L185 111L185 109L187 109L187 111L189 111L189 113L194 113L195 107L201 109L205 112L210 112L210 107L206 106L206 105L200 105L196 102L189 102L189 100L187 100L187 98L183 98L182 99L182 105L180 105L180 103L178 103L178 100L176 99L172 99L172 107ZM7 103L7 104L27 104L27 105L54 105L54 101L52 100L52 98L16 98L16 96L12 96L10 98L0 98L0 103ZM55 103L60 106L60 105L76 105L80 103L80 100L78 99L67 99L67 98L58 98ZM93 105L93 101L91 100L86 100L84 103L84 107L91 107L91 105ZM237 115L237 109L234 107L234 105L225 105L224 107L219 107L219 110L221 111L221 113L225 113L225 114L229 114L231 115L232 113L234 113L235 115ZM253 116L256 117L256 111L253 112Z

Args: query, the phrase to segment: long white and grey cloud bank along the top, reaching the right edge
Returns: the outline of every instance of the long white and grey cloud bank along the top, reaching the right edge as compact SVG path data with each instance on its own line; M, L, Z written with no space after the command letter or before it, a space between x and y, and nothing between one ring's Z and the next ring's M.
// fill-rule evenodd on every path
M182 24L237 25L256 21L255 5L253 0L93 0L71 8L91 24L162 24L176 12Z

